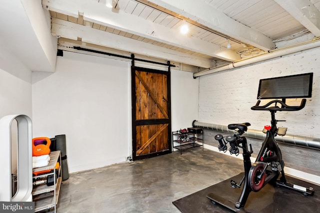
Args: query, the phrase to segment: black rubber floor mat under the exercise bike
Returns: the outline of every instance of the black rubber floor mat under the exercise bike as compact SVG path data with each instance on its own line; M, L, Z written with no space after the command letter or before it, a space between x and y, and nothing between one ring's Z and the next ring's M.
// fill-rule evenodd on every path
M172 202L182 213L232 213L230 209L243 213L316 213L320 212L320 186L309 184L298 179L287 177L287 182L314 189L313 196L303 196L299 192L274 187L267 184L259 192L251 192L248 200L240 210L234 207L242 188L233 189L230 187L230 180L240 182L243 173L230 179L212 185L206 189L188 195ZM212 194L211 194L212 193ZM211 194L214 198L222 200L224 206L213 204L206 198Z

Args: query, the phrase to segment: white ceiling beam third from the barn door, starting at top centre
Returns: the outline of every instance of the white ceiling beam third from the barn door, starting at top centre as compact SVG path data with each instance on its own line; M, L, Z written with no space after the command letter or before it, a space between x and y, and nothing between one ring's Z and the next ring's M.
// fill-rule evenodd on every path
M245 26L202 0L148 0L170 11L265 51L274 49L272 39Z

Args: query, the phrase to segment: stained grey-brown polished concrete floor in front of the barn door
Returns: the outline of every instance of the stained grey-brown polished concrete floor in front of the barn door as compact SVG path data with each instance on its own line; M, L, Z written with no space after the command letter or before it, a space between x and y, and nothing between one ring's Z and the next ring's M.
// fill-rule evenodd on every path
M179 213L173 201L242 171L241 160L198 148L72 173L57 213Z

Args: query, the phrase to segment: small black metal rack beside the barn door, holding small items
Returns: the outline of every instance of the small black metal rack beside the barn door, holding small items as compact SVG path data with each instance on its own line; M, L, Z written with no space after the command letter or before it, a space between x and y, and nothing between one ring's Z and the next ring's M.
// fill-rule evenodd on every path
M189 149L202 147L203 150L203 133L191 133L182 134L179 131L172 132L172 147L180 151L186 151Z

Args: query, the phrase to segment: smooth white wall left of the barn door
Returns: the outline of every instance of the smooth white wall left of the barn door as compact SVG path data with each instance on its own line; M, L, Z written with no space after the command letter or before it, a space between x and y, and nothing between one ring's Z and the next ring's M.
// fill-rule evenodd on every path
M125 161L131 143L128 62L63 52L32 75L33 137L66 135L69 172Z

